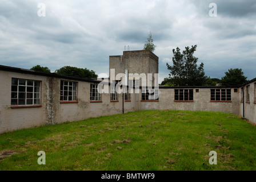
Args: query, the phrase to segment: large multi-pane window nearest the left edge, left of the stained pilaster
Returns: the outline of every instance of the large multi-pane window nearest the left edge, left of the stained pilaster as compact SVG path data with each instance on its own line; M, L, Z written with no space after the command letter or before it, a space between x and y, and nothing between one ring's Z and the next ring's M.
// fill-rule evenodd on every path
M41 81L11 78L11 105L39 105Z

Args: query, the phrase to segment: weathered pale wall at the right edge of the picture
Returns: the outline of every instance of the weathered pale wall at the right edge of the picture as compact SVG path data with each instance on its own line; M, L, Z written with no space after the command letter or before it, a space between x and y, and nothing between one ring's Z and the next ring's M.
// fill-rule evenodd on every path
M250 102L246 102L246 86L250 85ZM241 102L239 107L239 115L249 119L251 122L256 123L256 81L247 84L243 88L241 88L241 92L243 89L244 93L244 102ZM240 94L240 99L242 94ZM242 100L242 99L241 99ZM244 105L244 106L243 106ZM244 109L244 110L243 110ZM243 115L244 114L244 115Z

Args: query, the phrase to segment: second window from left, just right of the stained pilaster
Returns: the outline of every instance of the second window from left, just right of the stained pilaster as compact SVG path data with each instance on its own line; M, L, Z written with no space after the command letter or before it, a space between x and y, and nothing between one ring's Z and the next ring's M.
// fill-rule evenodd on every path
M77 100L77 82L61 80L61 101Z

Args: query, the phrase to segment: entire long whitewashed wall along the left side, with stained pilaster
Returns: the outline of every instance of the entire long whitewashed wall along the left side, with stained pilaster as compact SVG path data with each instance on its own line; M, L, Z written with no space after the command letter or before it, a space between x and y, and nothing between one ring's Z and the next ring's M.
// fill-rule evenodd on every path
M102 94L102 102L90 102L90 82L65 80L46 76L0 71L0 133L45 124L79 121L101 115L135 111L135 97L123 103L123 94L118 102L110 102L110 94ZM41 107L11 108L11 78L41 81ZM61 103L61 80L78 82L78 102ZM5 86L2 86L5 85Z

